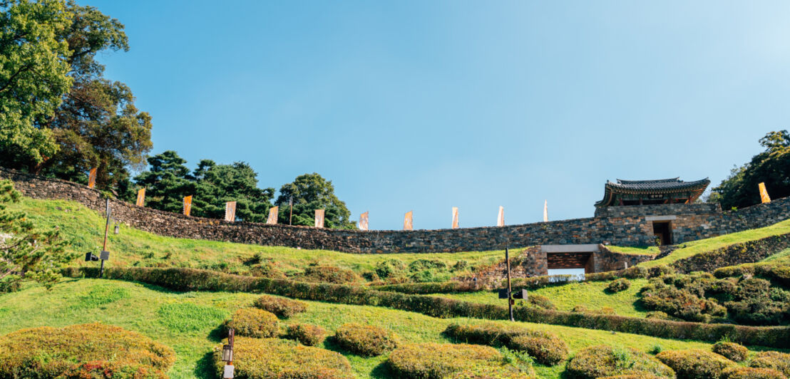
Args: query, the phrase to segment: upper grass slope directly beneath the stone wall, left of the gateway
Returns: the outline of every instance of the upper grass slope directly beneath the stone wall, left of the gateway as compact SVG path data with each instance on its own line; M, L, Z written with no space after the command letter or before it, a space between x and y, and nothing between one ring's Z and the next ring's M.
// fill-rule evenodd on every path
M74 262L75 265L86 265L83 257L88 251L96 253L101 250L105 219L85 205L74 201L43 201L24 197L19 204L10 205L9 209L27 212L29 218L42 227L58 227L62 236L73 242L69 250L81 255ZM272 261L286 274L301 272L310 264L334 265L362 272L374 268L378 261L391 258L404 261L407 265L417 259L435 259L448 266L457 261L467 261L471 269L476 265L490 265L504 257L503 250L467 253L339 253L163 237L126 225L120 226L119 235L110 232L107 248L112 253L112 259L107 261L109 267L190 267L246 272L247 267L243 262L257 253L263 261ZM96 262L87 265L96 265ZM467 273L453 272L453 275Z

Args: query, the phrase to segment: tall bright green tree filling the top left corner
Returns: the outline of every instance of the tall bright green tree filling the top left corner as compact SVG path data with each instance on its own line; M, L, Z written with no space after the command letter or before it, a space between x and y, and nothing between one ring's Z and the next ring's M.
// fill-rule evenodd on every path
M58 36L70 13L58 0L0 0L0 164L36 167L55 155L40 127L69 91L68 43Z

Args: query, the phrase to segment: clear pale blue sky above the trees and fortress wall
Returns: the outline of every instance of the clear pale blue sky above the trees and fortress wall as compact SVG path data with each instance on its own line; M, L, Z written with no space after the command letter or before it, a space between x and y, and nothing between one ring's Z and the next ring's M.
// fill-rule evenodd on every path
M788 129L790 2L78 0L153 153L333 181L371 229L592 216L615 178L725 178Z

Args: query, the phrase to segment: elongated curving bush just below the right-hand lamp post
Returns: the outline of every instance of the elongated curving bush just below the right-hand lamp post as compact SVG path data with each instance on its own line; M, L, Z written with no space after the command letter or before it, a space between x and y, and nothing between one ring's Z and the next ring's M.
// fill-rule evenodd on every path
M551 332L529 330L517 326L494 323L479 325L450 324L444 334L453 340L479 343L491 347L508 347L525 351L536 362L554 366L568 357L568 345Z

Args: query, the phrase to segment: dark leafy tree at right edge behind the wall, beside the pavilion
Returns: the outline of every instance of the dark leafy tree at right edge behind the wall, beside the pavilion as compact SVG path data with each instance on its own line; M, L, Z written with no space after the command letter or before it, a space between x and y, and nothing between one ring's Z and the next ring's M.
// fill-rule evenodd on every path
M767 133L760 144L765 151L742 167L735 167L728 178L712 189L709 201L718 201L725 209L758 204L760 182L766 183L773 198L790 196L790 133Z

